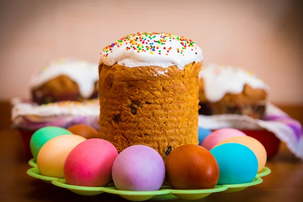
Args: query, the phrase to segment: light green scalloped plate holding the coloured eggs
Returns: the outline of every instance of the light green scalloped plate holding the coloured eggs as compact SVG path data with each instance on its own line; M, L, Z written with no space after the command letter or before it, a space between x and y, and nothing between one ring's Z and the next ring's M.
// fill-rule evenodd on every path
M257 174L256 178L249 183L243 184L229 184L229 185L217 185L213 189L197 189L197 190L177 190L172 189L170 186L162 186L157 191L126 191L118 190L114 184L110 184L107 187L85 187L85 186L74 186L66 183L65 179L53 178L42 176L39 173L38 168L31 168L26 172L29 176L43 180L47 183L52 183L56 186L66 188L79 195L98 195L102 193L119 195L127 200L131 201L144 201L144 200L169 200L169 199L187 199L196 200L204 198L211 193L225 192L232 193L246 189L249 186L255 186L263 182L261 177L269 175L271 170L265 167L260 173Z

